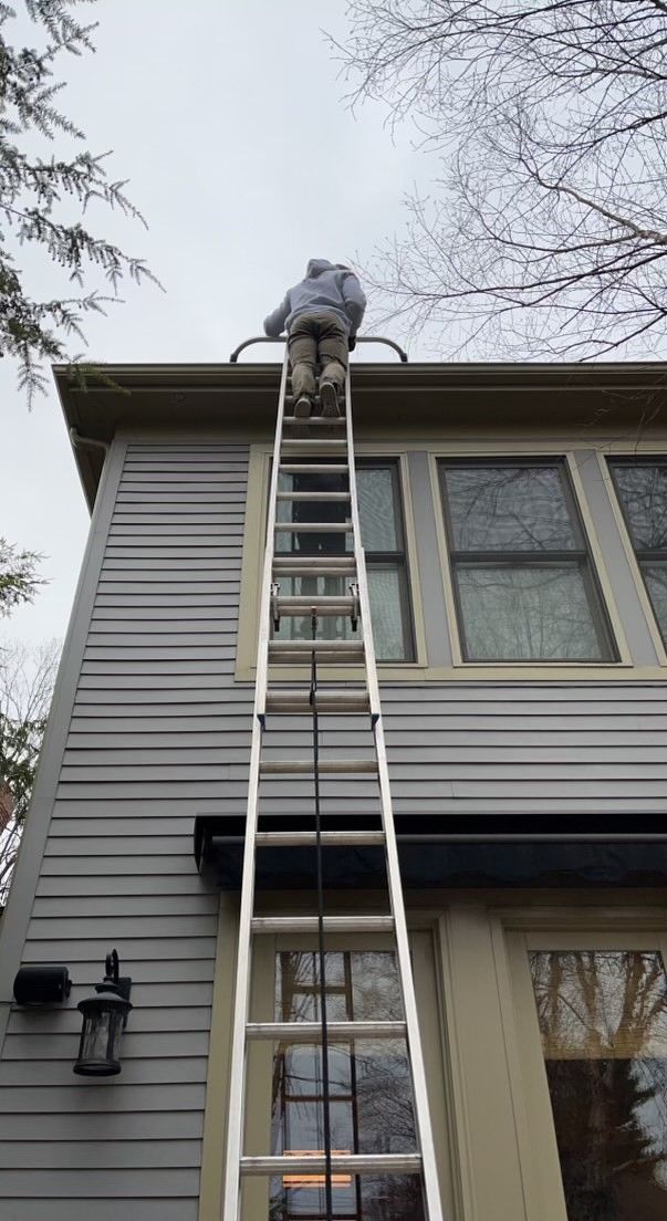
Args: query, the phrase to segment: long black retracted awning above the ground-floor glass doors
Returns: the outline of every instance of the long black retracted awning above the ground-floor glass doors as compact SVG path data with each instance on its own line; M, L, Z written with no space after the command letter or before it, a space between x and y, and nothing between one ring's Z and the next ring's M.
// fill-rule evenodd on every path
M199 872L221 890L238 890L243 814L195 819ZM396 814L401 875L407 890L465 886L667 886L667 812L606 816ZM329 814L329 830L377 829L377 822ZM312 830L313 818L271 817L263 830ZM386 885L382 847L326 847L324 883L331 890ZM260 847L258 890L309 890L314 847Z

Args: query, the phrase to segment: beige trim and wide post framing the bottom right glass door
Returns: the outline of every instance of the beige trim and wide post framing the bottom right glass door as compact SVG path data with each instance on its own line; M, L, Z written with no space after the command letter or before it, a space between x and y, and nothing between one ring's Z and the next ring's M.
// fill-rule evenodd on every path
M501 891L441 896L442 1021L459 1221L568 1221L527 949L658 950L665 910ZM435 899L435 895L434 895Z

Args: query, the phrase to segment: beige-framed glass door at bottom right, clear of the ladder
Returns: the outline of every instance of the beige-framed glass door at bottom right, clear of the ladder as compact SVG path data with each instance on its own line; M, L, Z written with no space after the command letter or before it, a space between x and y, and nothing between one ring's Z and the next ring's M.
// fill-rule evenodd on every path
M553 913L555 915L555 913ZM503 1000L527 1221L662 1221L667 1215L665 934L646 908L570 910L561 926L512 913ZM660 919L660 917L658 917ZM540 921L540 923L542 923ZM505 1007L507 1004L508 1007Z

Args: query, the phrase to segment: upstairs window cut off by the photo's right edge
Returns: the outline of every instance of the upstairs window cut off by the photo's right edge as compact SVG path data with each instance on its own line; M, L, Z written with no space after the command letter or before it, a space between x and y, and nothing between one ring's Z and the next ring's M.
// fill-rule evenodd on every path
M610 466L654 614L667 645L667 458L614 458Z

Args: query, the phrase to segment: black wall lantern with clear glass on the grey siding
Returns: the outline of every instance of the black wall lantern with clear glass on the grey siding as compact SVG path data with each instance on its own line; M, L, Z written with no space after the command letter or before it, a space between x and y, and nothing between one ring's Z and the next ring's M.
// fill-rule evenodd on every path
M79 1000L83 1013L78 1059L73 1071L82 1077L114 1077L121 1071L120 1049L127 1015L132 1009L132 979L118 977L116 950L106 955L105 976L93 996Z

